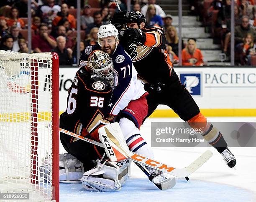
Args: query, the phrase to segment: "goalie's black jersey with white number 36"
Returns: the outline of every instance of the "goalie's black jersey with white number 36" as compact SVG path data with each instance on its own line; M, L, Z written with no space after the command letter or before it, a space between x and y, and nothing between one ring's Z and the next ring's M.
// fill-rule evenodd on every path
M69 88L67 110L60 115L60 127L99 141L97 130L109 123L105 116L111 95L110 87L93 80L85 67L81 67ZM61 142L72 141L74 137L61 133Z

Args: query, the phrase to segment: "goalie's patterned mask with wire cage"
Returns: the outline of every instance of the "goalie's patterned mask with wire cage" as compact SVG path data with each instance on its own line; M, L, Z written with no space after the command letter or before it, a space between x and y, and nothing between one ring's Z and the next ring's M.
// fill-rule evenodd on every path
M87 68L91 72L92 79L102 81L107 86L115 86L113 61L108 53L102 50L93 51L88 58Z

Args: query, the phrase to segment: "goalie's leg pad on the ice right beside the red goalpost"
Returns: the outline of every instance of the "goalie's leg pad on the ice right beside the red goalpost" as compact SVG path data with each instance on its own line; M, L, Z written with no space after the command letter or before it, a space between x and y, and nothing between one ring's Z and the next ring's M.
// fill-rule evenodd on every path
M83 164L71 154L59 155L59 182L62 183L81 183L80 178L83 176Z

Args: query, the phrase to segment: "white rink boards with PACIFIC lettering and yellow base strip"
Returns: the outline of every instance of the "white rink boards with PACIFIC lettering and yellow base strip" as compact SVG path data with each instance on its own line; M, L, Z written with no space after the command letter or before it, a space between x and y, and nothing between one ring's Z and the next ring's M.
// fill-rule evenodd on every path
M77 67L59 69L60 111L66 110L67 90ZM256 116L256 67L174 67L182 84L189 90L208 117ZM171 96L171 94L170 94ZM151 117L177 117L160 105Z

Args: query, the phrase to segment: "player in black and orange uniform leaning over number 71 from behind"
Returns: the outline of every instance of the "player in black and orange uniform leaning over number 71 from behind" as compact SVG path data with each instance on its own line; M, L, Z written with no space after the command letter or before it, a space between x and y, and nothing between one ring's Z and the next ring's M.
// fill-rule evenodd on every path
M116 12L111 23L118 28L120 43L131 55L138 78L144 83L149 95L148 116L158 105L171 107L179 117L193 128L204 128L203 137L223 156L229 167L236 165L236 158L228 149L223 135L207 122L196 102L181 84L166 51L164 29L148 25L139 11ZM128 29L121 30L126 25Z

